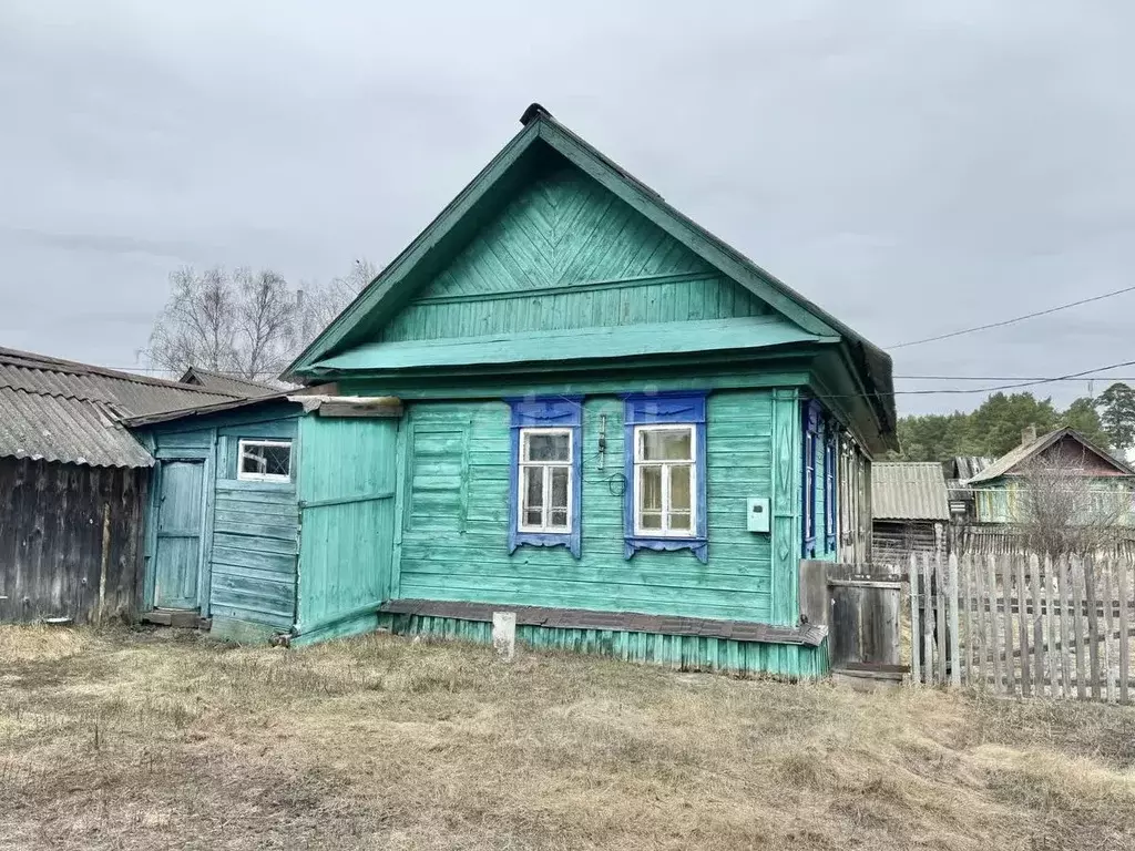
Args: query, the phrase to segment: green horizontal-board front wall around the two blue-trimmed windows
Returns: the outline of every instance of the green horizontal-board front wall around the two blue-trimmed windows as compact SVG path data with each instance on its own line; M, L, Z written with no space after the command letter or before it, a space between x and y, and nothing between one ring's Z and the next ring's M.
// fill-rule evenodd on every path
M585 402L582 558L577 561L562 547L521 547L508 555L505 403L413 404L397 597L774 620L770 536L746 530L747 497L773 489L773 395L709 396L705 565L689 551L623 558L622 408L609 396ZM607 452L600 456L604 419ZM790 511L798 517L799 503ZM783 591L792 603L799 537L793 540L792 589ZM788 622L798 615L799 609Z

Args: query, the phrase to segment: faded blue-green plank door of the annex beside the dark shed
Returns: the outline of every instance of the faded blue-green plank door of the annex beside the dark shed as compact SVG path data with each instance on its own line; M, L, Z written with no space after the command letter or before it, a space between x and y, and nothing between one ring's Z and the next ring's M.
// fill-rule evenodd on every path
M154 608L199 608L204 463L162 462L158 475Z

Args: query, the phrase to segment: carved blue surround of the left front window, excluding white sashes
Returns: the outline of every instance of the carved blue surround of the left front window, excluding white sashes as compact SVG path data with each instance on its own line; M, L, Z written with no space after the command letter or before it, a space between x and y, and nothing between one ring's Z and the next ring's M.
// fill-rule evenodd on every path
M523 545L531 547L566 547L579 558L582 554L583 511L583 397L554 396L505 399L512 411L508 453L508 553ZM520 531L520 430L530 428L570 429L572 433L571 531L535 533Z

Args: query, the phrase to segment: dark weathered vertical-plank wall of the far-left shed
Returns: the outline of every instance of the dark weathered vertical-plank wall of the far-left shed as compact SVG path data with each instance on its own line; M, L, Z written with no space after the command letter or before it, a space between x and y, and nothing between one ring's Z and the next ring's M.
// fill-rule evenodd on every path
M150 470L0 458L0 622L133 617Z

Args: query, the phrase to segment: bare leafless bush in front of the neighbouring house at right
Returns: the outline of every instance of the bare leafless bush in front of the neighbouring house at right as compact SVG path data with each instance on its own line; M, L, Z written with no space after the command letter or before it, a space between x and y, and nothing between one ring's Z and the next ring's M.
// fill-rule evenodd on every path
M1016 520L1031 549L1053 557L1085 555L1113 546L1130 521L1129 485L1092 475L1084 453L1057 447L1026 467Z

